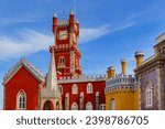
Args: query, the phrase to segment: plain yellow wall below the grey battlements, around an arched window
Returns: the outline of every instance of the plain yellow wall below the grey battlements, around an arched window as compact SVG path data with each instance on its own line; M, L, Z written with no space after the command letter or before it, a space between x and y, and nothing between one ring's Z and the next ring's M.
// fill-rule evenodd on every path
M114 99L116 110L133 110L134 109L134 94L132 89L124 92L123 88L121 92L110 92L106 93L106 110L110 109L110 100Z

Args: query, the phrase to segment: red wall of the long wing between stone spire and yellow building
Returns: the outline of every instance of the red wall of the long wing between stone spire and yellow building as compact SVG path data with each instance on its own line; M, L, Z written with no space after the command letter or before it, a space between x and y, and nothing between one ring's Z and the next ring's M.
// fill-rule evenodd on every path
M92 84L92 94L87 94L87 85L88 83ZM78 94L72 94L72 87L76 84L78 87ZM61 85L61 84L59 84ZM65 109L65 95L69 94L69 109L72 109L73 103L77 103L78 109L79 109L79 95L80 93L84 93L84 109L86 109L86 104L90 101L92 104L94 110L96 109L96 92L99 92L99 103L106 104L105 99L105 87L106 82L82 82L82 83L68 83L68 84L62 84L63 86L63 94L62 94L62 104L63 109ZM100 105L99 104L99 105Z

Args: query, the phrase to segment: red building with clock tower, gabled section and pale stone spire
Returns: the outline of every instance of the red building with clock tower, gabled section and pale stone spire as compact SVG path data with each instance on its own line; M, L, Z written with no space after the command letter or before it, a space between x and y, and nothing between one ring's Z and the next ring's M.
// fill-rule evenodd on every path
M22 58L4 76L3 109L105 109L106 76L81 75L79 23L73 11L69 20L54 15L53 33L47 76Z

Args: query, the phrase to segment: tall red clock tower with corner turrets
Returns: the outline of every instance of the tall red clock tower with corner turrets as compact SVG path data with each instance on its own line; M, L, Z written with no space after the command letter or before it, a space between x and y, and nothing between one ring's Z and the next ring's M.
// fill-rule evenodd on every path
M69 20L58 21L53 18L53 33L55 35L55 61L58 77L72 77L81 75L80 52L77 47L79 37L79 23L72 11Z

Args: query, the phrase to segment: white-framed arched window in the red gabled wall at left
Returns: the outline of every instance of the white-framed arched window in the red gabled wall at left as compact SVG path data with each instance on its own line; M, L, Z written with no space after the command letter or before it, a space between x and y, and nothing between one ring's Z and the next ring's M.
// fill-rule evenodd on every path
M25 93L23 90L20 90L18 93L16 104L18 104L18 109L25 109L25 107L26 107L26 96L25 96Z

